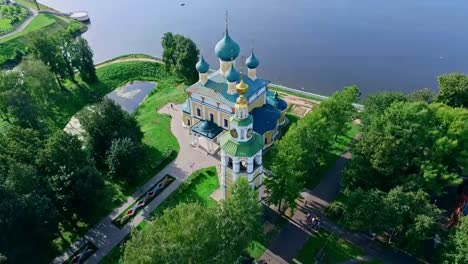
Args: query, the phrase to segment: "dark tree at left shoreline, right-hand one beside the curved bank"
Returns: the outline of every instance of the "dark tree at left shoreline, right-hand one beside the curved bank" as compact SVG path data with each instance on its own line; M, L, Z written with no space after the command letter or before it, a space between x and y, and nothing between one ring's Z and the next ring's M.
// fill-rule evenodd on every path
M97 81L93 51L89 47L88 41L82 37L76 38L70 52L72 65L80 72L83 81L86 83Z

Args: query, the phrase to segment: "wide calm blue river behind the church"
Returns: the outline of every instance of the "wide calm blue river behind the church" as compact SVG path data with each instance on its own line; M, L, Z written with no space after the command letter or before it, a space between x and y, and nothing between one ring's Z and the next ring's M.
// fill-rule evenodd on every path
M39 0L85 10L95 61L127 53L160 56L167 32L193 39L212 68L214 46L229 32L258 75L329 95L356 84L378 91L437 89L436 76L468 72L466 0ZM185 3L185 6L181 4Z

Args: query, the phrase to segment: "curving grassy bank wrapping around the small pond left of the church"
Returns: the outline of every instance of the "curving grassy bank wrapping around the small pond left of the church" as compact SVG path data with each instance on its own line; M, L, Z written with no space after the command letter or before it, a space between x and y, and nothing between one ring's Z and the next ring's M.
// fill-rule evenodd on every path
M142 175L136 180L136 183L129 186L122 182L106 181L105 199L103 208L96 212L95 221L110 213L115 207L122 204L127 197L132 194L137 186L145 183L153 177L167 162L171 161L178 152L179 146L176 138L170 131L170 118L166 115L160 115L155 112L161 106L169 102L181 102L185 98L183 85L177 85L178 81L168 75L159 63L151 62L125 62L108 65L97 69L99 82L91 86L80 82L81 87L69 82L67 83L69 93L63 94L54 108L58 115L54 122L57 129L62 129L70 117L85 107L87 104L94 103L105 94L111 92L129 81L148 80L158 82L158 88L153 92L139 107L135 117L144 132L143 142L146 147L148 159L142 163ZM92 223L91 223L92 224ZM65 231L64 236L68 243L75 241L82 236L88 225L80 223L80 230ZM68 243L60 238L55 240L55 249L51 256L62 252Z

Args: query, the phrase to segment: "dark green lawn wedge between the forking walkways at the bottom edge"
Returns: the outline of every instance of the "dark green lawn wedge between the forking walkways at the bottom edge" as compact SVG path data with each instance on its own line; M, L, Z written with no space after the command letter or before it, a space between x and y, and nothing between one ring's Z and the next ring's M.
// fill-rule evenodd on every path
M335 235L330 237L330 233L326 231L320 231L312 234L299 252L298 260L304 264L315 263L314 258L322 248L325 252L323 263L340 263L363 254L362 250L355 245Z

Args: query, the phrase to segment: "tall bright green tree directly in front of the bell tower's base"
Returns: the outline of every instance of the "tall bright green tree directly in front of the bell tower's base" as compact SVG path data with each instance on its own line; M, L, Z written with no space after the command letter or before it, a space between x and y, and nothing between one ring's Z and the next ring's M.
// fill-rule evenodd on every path
M220 263L234 263L255 236L262 232L260 217L262 206L258 193L247 179L240 178L232 188L232 196L220 207L218 232L221 234L221 250L217 254Z

